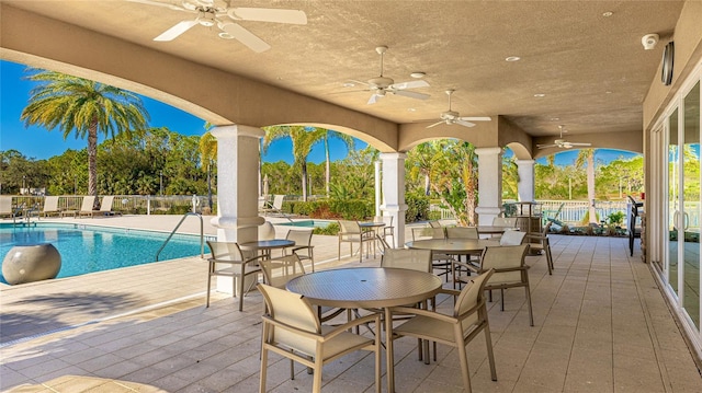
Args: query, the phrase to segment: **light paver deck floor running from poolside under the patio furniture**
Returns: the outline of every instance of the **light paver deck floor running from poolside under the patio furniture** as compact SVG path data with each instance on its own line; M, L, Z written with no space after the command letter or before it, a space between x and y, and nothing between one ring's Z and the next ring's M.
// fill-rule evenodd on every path
M56 221L170 231L179 220ZM199 233L199 226L189 218L179 232ZM216 233L207 219L204 227L205 233ZM276 227L276 233L284 236L288 229ZM377 258L337 262L336 236L315 235L313 244L317 268L378 265ZM477 337L467 346L474 392L702 391L700 372L649 266L638 251L629 256L626 238L552 235L552 248L553 276L543 256L526 258L535 326L529 326L522 290L506 292L503 312L499 293L488 304L498 381L490 381L485 342ZM2 286L0 390L81 392L88 380L67 377L78 375L93 378L93 388L99 378L152 391L258 391L261 296L250 293L238 312L236 299L213 292L206 309L205 279L206 263L194 257ZM452 307L450 299L440 300L440 310ZM415 346L410 338L396 342L397 392L462 391L455 350L440 345L439 360L427 366L416 360ZM371 392L372 367L371 355L341 358L325 368L324 390ZM302 367L290 380L288 363L272 356L269 369L271 391L310 390L312 375Z

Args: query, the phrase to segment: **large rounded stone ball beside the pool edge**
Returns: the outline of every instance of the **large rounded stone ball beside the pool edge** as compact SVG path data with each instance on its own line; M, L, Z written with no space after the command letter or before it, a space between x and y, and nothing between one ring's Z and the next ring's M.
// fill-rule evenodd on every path
M61 254L50 243L15 245L2 261L2 276L10 285L55 278L61 268Z

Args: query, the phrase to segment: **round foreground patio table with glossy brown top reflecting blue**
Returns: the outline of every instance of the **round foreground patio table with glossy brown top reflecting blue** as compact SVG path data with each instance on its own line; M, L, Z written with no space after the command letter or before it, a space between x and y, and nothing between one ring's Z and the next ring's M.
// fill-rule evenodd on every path
M290 280L291 292L310 303L342 309L383 309L387 391L395 391L393 315L390 308L422 302L441 290L441 279L430 273L382 267L315 271Z

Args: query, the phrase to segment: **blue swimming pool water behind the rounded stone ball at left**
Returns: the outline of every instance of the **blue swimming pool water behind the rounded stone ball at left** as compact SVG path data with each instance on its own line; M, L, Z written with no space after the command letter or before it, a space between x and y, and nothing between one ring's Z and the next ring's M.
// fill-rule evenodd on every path
M58 277L116 269L155 262L167 233L84 224L0 224L0 257L15 245L52 243L61 254ZM206 239L205 239L206 240ZM210 253L205 243L205 253ZM200 255L200 236L176 234L159 261ZM0 282L7 284L0 275Z

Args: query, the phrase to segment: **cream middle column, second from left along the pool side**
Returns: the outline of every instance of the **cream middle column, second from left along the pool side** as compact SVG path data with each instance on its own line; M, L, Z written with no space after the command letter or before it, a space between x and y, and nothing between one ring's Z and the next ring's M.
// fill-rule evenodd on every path
M392 244L394 247L405 244L405 153L381 153L383 162L383 197L384 204L381 206L384 216L393 216L395 236Z

